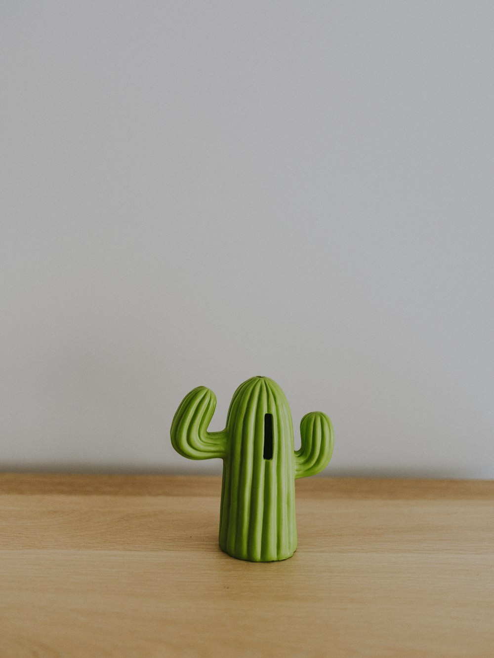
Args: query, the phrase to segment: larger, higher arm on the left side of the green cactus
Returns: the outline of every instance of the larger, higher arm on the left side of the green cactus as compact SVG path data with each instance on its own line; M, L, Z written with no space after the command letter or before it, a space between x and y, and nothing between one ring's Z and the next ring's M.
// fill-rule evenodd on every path
M207 432L216 407L215 394L198 386L182 400L171 424L171 443L182 457L210 459L224 457L226 432Z

